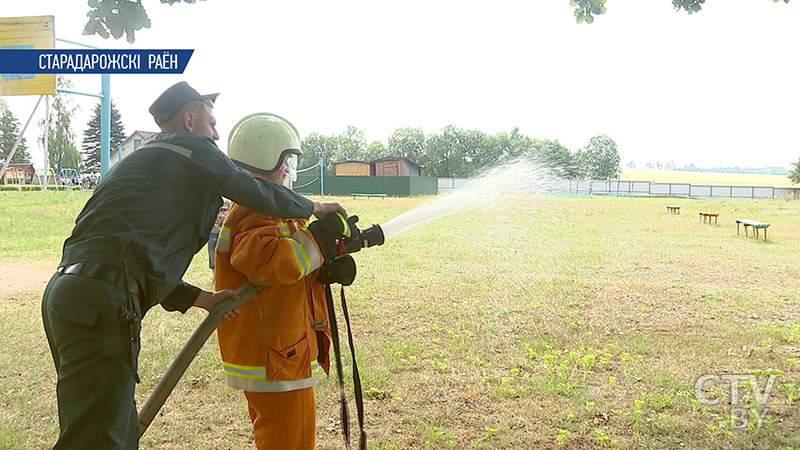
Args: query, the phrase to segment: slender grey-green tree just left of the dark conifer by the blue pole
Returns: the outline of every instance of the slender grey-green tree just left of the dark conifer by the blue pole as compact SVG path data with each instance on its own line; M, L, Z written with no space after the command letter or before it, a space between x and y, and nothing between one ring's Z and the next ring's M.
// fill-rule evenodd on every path
M56 84L59 88L69 89L72 83L64 77L57 77ZM75 134L72 132L72 115L75 114L77 107L69 103L69 94L58 93L53 98L53 107L50 109L50 117L46 117L39 122L42 134L39 142L44 144L44 130L48 127L50 132L47 142L47 160L56 173L61 169L81 170L81 154L75 146Z

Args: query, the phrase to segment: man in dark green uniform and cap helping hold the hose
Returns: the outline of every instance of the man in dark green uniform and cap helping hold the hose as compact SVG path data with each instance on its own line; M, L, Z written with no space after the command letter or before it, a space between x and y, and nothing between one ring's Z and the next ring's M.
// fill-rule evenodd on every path
M64 242L42 300L58 372L55 448L137 448L141 317L156 304L210 310L233 294L181 280L208 240L220 196L277 217L344 212L233 164L214 143L217 95L185 82L161 94L150 113L162 132L103 177Z

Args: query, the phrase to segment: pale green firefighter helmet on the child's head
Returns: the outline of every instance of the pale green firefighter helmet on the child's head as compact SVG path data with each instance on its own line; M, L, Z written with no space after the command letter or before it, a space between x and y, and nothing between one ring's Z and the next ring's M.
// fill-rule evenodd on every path
M300 134L288 120L275 114L250 114L234 125L228 136L228 156L244 169L272 172L280 168L287 153L303 153Z

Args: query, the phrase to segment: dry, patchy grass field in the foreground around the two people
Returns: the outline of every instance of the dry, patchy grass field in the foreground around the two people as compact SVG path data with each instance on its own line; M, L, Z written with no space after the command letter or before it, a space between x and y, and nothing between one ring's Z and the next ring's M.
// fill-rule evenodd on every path
M0 193L0 447L54 443L40 301L87 198ZM430 198L339 200L366 225ZM682 214L667 214L676 202ZM799 449L798 206L514 196L360 252L347 300L368 448ZM699 210L719 225L698 223ZM771 222L769 241L737 236L734 217ZM206 267L200 252L187 281L209 287ZM203 314L148 314L139 404ZM142 448L252 446L243 396L219 366L209 342ZM719 379L698 397L704 374L777 381L759 404L747 383L737 400ZM335 377L323 378L319 449L344 447L337 402ZM731 421L732 404L753 415Z

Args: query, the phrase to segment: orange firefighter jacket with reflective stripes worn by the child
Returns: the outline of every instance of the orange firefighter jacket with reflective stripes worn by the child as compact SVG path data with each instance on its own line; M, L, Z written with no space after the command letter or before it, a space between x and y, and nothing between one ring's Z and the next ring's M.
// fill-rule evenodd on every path
M330 329L322 264L306 219L277 219L233 203L216 247L215 289L267 286L217 328L228 385L252 392L314 386L328 372ZM321 342L318 342L321 340Z

